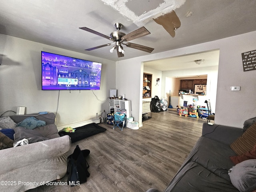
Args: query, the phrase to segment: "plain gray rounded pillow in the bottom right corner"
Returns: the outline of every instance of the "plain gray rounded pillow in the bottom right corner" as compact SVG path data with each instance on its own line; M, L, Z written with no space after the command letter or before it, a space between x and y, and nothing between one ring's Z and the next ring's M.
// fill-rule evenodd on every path
M232 184L240 192L256 190L256 159L238 163L229 174Z

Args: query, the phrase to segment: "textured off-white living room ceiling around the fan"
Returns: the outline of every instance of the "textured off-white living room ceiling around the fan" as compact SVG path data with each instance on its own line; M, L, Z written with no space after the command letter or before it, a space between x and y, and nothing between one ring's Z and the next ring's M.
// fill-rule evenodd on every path
M181 22L174 38L152 20L172 9ZM154 54L255 31L255 17L255 0L0 0L0 33L114 61L150 53L126 46L122 58L110 46L85 51L111 41L79 27L109 36L116 22L126 34L142 24L151 34L131 42Z

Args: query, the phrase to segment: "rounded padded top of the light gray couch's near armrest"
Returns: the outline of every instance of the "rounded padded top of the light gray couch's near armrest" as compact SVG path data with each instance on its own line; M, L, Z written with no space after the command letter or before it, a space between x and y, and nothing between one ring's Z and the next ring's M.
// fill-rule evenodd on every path
M62 156L70 150L69 136L44 140L0 150L0 175L45 160Z

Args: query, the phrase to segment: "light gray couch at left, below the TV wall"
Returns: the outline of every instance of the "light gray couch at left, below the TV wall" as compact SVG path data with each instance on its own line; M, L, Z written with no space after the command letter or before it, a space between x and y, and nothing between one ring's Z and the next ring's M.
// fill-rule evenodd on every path
M43 136L42 141L0 150L0 191L24 192L66 174L70 137L58 135L53 113L15 115L10 118L18 123L30 116L46 122L45 126L33 129ZM14 139L17 139L16 134ZM22 133L19 136L22 137Z

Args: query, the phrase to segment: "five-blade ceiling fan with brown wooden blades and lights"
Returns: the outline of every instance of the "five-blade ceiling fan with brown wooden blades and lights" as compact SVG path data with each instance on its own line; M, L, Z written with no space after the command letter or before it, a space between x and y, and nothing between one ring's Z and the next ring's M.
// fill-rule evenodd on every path
M89 29L87 27L80 27L80 29L82 29L82 30L91 32L93 34L96 34L98 36L101 36L101 37L104 37L106 39L112 40L114 42L114 43L108 43L108 44L96 46L96 47L93 47L93 48L89 48L89 49L86 49L86 51L91 51L91 50L98 49L98 48L101 48L101 47L113 45L113 48L110 49L110 53L113 53L114 50L116 49L118 57L123 57L125 51L124 51L124 48L122 47L122 45L126 45L127 47L142 50L142 51L145 51L145 52L148 52L148 53L151 53L154 50L154 48L150 48L150 47L147 47L147 46L127 42L127 41L130 41L130 40L133 40L133 39L136 39L136 38L140 38L142 36L150 34L150 32L145 27L138 28L138 29L136 29L136 30L134 30L134 31L132 31L128 34L125 34L123 32L120 32L120 29L123 26L121 23L115 23L114 26L115 26L117 31L114 31L114 32L110 33L110 37L106 36L102 33L99 33L97 31L94 31L92 29Z

